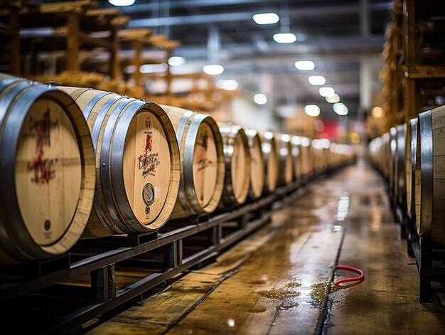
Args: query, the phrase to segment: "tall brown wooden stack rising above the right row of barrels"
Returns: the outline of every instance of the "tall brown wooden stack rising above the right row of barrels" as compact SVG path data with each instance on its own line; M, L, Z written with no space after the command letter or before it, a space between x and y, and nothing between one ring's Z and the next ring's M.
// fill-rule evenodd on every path
M445 104L444 18L443 1L394 1L380 73L381 133Z

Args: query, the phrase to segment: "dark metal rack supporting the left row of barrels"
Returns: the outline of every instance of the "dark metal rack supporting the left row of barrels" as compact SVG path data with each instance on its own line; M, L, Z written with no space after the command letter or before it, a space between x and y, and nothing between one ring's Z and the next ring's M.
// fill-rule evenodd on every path
M144 292L171 280L184 270L207 265L230 245L269 223L272 210L291 203L304 194L310 185L307 183L301 187L295 182L232 211L171 221L152 233L80 240L67 255L0 268L0 312L8 311L12 305L23 305L29 296L46 299L45 294L49 294L48 297L60 297L62 294L63 299L65 296L67 299L77 299L80 298L80 294L75 293L78 289L82 289L88 300L85 287L61 283L90 275L89 301L51 321L44 334L79 330L85 322L107 315L107 312L126 302L141 302ZM228 223L231 223L230 229L223 235L223 228ZM185 253L184 240L191 238L200 238L202 249ZM154 255L161 255L161 260L151 260ZM115 275L117 266L119 269L155 268L152 272L150 270L150 275L118 288ZM36 309L40 308L37 306ZM23 319L21 324L26 327L26 320ZM28 324L32 325L31 322Z

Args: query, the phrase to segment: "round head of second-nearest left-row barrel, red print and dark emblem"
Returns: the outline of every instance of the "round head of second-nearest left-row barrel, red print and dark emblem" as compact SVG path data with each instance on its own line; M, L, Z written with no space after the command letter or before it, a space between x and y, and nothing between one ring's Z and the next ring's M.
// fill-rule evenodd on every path
M166 202L171 162L161 121L141 110L130 122L124 147L124 185L134 216L153 222Z

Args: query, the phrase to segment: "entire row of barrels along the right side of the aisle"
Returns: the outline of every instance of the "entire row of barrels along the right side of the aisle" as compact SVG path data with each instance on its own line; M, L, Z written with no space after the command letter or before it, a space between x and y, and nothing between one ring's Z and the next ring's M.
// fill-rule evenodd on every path
M369 144L393 206L417 234L445 244L445 106L392 127Z

